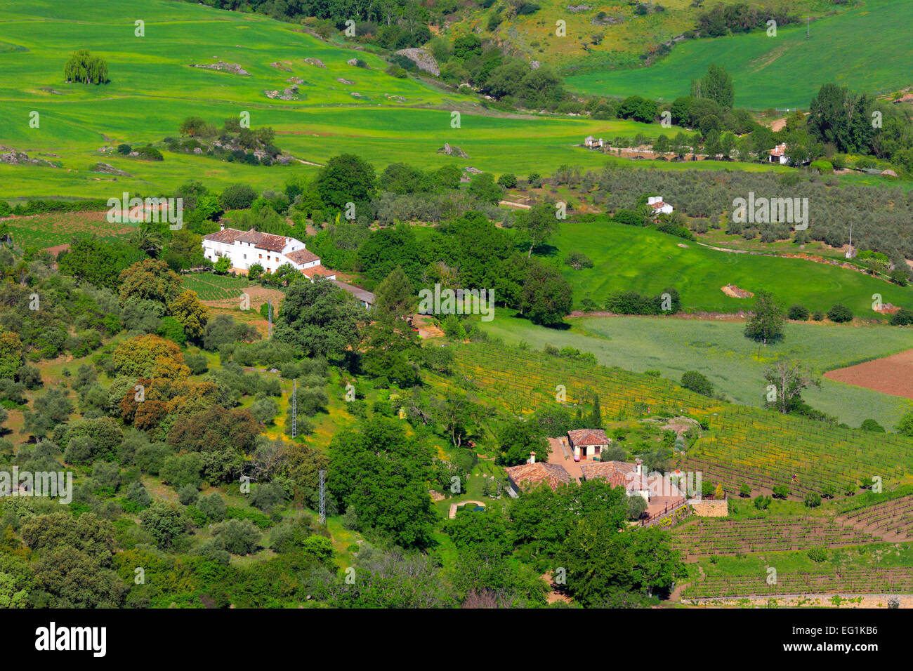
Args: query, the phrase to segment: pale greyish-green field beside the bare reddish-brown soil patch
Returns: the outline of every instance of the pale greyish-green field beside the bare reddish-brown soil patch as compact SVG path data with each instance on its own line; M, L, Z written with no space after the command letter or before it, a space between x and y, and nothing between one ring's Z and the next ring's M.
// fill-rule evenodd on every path
M913 347L909 330L887 326L836 326L788 323L777 345L759 346L742 334L741 321L683 320L662 317L591 317L569 320L570 330L543 329L498 310L482 326L510 345L525 341L534 350L546 343L590 351L606 366L628 371L660 371L678 383L685 371L702 372L730 400L760 406L764 369L777 358L797 359L817 372L842 368ZM822 380L803 393L814 408L858 426L871 417L888 429L913 402L850 384Z

